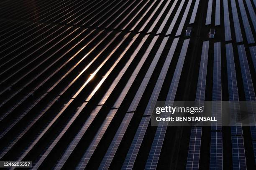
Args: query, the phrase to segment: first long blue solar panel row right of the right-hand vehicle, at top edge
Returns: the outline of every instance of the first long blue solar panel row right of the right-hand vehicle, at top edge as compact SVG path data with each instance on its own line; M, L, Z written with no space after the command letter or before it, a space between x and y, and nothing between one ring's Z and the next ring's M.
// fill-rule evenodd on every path
M225 41L231 40L230 22L228 14L228 0L223 0L224 7L224 26L225 26Z

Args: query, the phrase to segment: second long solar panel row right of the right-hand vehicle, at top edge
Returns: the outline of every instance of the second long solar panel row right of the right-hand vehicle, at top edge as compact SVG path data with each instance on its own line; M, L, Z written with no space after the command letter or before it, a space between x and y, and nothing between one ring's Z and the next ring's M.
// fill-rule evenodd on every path
M235 28L235 33L236 33L236 42L242 42L243 37L242 37L240 23L239 23L239 19L238 19L238 13L236 10L235 0L231 0L231 7L232 7L232 14L233 14L234 28Z

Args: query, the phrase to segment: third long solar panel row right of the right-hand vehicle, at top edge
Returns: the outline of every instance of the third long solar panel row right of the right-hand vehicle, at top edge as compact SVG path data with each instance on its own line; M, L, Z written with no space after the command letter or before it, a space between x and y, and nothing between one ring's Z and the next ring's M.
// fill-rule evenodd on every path
M249 24L249 21L247 18L246 10L243 5L243 0L238 0L238 3L239 3L240 12L241 12L242 20L243 20L243 27L246 32L247 42L248 42L248 44L254 43L253 34L251 32L251 28L250 28L250 24Z

